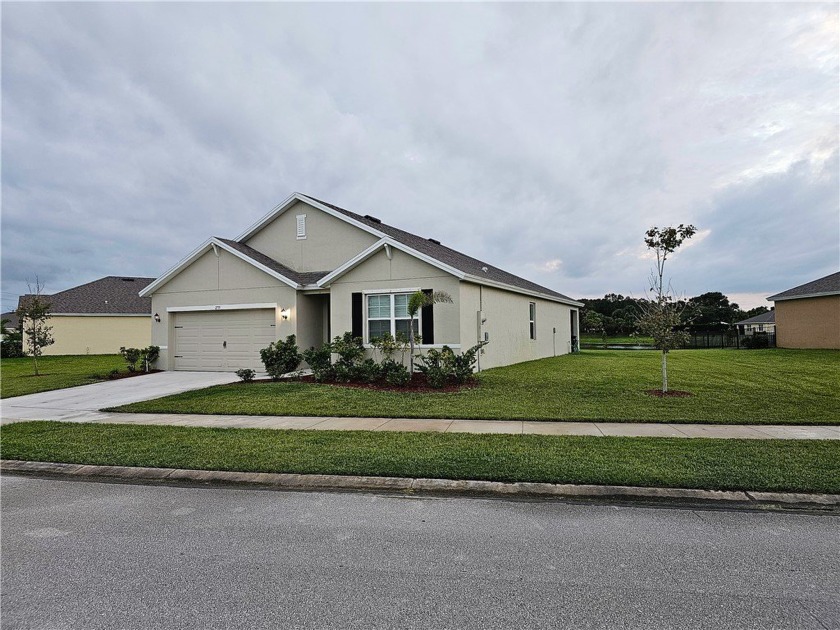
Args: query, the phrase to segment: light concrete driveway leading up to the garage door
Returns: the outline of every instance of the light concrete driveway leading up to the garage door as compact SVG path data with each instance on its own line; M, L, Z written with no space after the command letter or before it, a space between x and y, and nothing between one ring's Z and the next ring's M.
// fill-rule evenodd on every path
M158 372L146 376L56 389L0 401L0 417L10 420L79 420L90 422L104 407L178 394L239 380L229 372Z

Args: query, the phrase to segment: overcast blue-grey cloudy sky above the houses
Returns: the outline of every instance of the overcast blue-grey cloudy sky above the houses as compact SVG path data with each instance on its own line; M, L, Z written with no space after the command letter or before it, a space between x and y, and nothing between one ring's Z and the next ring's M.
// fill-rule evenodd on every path
M156 276L291 192L574 297L840 268L829 4L4 4L2 301Z

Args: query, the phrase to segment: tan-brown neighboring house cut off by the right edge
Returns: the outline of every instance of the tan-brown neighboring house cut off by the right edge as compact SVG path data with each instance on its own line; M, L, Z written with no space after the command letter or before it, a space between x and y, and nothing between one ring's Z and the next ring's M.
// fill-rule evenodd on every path
M776 346L840 349L840 272L771 295Z

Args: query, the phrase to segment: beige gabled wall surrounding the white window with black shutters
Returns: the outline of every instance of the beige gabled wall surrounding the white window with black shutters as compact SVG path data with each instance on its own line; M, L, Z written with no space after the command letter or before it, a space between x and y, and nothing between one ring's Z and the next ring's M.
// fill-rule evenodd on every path
M461 343L458 279L397 249L391 252L389 260L383 248L332 283L330 334L335 337L352 329L353 293L378 289L433 289L446 291L453 301L453 304L436 304L434 307L435 345L457 347Z

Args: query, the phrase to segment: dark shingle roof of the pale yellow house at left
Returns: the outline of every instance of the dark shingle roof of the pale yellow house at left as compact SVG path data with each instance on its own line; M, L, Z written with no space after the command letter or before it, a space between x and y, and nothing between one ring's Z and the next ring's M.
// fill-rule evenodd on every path
M154 278L106 276L87 284L43 296L53 313L84 313L102 315L151 315L152 298L137 295ZM30 295L23 295L24 304Z

